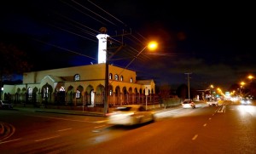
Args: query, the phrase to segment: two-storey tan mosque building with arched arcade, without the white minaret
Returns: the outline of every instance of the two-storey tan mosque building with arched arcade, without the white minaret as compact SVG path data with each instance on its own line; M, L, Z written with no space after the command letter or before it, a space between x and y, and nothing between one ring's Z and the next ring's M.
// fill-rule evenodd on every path
M23 74L23 83L3 85L4 100L62 106L104 106L106 64L74 66ZM108 65L108 106L159 103L154 80L137 81L136 71Z

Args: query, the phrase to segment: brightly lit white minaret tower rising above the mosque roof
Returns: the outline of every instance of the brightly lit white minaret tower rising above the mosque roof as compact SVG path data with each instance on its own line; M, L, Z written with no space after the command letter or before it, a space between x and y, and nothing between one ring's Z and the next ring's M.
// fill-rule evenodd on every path
M108 34L107 29L105 27L102 27L100 29L102 34L98 34L96 37L99 39L99 44L98 44L98 64L100 63L106 63L106 58L107 58L107 39L108 39Z

